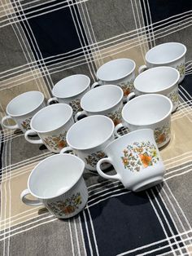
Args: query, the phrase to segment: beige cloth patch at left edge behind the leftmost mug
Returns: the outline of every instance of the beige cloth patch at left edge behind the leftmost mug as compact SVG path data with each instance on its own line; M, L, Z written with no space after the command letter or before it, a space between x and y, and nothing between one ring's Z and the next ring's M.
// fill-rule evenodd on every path
M4 80L0 84L0 115L6 115L6 107L11 99L29 90L40 90L46 98L50 97L46 83L39 69L22 73Z

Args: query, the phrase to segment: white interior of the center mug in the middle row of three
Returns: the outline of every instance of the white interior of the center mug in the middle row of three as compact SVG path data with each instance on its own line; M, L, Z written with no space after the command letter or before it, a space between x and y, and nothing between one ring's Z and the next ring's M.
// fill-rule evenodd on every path
M119 86L98 86L83 96L81 108L92 113L104 111L120 103L123 95L123 90Z

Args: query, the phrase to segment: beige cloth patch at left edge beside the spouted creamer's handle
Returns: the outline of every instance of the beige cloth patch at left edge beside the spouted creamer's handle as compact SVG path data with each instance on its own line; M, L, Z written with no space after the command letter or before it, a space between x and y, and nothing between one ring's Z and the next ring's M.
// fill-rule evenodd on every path
M38 162L2 174L1 230L39 216L43 207L25 205L20 193L27 188L28 175ZM28 196L34 200L33 196Z

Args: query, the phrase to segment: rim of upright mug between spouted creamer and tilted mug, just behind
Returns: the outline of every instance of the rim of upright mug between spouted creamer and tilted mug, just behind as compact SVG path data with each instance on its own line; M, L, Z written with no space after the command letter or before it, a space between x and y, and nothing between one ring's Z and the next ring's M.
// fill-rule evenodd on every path
M94 145L94 146L92 146L92 147L89 147L89 148L73 147L72 144L68 142L68 136L70 135L71 130L74 129L73 127L74 127L74 126L78 126L78 124L80 124L80 122L85 121L86 118L91 119L91 118L95 118L95 117L102 117L102 118L105 118L105 119L107 119L108 121L111 122L111 127L112 127L112 129L111 129L110 134L107 135L107 138L106 138L105 140L103 140L102 143L98 143L98 144L96 144L96 145ZM106 143L107 140L111 138L111 135L113 135L114 129L115 129L115 125L114 125L113 121L111 120L111 118L106 117L106 116L104 116L104 115L89 116L89 117L85 117L85 118L81 119L80 121L75 122L75 123L69 128L68 133L67 133L67 135L66 135L66 140L67 140L68 145L69 145L72 149L81 150L81 151L89 150L89 149L97 148L98 146L101 146L103 143Z

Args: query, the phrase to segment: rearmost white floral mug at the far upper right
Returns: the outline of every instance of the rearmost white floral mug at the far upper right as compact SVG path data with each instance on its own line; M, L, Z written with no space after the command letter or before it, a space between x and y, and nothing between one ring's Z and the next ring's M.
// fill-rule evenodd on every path
M142 65L138 68L138 73L142 73L142 71L147 68L170 66L179 71L179 82L182 82L185 77L185 53L186 47L180 42L165 42L159 44L146 52L146 65Z

